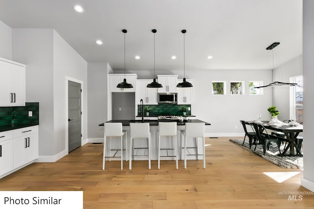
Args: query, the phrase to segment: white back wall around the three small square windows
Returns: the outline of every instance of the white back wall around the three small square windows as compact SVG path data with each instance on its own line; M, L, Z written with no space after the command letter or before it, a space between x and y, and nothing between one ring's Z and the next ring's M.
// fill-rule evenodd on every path
M114 71L123 73L122 71ZM136 73L138 79L153 78L151 71L128 71ZM178 74L183 78L183 71L157 70L157 74ZM249 81L263 81L264 84L272 82L272 70L188 70L185 71L186 79L194 79L192 114L197 118L211 123L206 127L208 136L242 136L243 128L240 119L252 120L257 114L262 114L262 119L270 119L267 108L272 105L272 90L263 89L263 95L249 95ZM212 81L226 81L226 95L212 95ZM244 95L230 95L230 82L244 81ZM237 128L235 128L237 126Z

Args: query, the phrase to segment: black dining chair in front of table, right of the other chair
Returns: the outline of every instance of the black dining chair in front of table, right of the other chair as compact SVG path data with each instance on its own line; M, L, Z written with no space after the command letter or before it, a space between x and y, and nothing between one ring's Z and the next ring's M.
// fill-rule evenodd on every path
M270 142L275 142L278 146L278 151L279 154L281 154L280 151L280 144L281 144L281 140L278 139L277 136L274 135L269 135L267 133L267 130L265 129L265 127L262 124L257 124L257 123L250 123L253 126L253 130L256 133L257 136L257 142L255 144L255 148L254 151L256 150L257 144L262 144L263 145L263 154L266 153L266 149L269 149L269 144Z

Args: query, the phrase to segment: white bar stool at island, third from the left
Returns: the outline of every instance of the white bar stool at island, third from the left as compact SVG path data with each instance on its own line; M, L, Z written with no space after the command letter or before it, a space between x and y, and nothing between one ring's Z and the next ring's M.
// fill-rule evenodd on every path
M174 148L164 148L160 149L160 138L161 137L173 137L174 138ZM166 150L166 156L160 156L160 150ZM174 150L174 155L169 156L168 150ZM158 169L160 169L160 157L174 157L176 161L176 166L178 169L178 156L177 156L177 122L158 122Z

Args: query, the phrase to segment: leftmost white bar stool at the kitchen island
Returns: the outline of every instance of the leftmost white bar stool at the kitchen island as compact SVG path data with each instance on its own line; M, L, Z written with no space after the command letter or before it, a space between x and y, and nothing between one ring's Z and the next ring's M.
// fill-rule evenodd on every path
M103 170L105 170L105 158L121 158L121 170L123 169L123 136L126 135L126 139L128 138L127 136L127 131L122 130L122 123L104 123L104 156L103 156ZM106 138L109 137L110 139L110 154L111 150L114 150L115 153L113 156L106 157L105 151L106 151ZM121 147L120 149L111 149L111 137L120 137L121 140ZM118 151L121 151L121 157L117 157L116 154ZM127 161L128 161L128 143L126 140L126 153L127 153Z

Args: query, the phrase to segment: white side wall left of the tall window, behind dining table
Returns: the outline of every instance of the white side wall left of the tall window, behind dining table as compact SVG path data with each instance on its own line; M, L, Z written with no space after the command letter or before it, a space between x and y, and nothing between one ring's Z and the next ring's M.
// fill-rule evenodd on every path
M290 60L287 63L284 63L279 68L274 70L274 81L280 82L290 82L290 77L302 75L303 65L302 65L302 55ZM289 90L293 87L269 87L273 88L274 93L274 106L277 107L278 111L280 111L280 115L278 119L287 120L290 118L289 116Z

